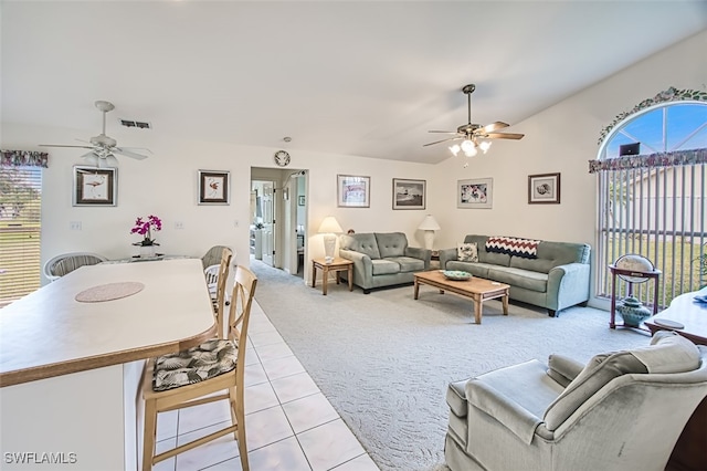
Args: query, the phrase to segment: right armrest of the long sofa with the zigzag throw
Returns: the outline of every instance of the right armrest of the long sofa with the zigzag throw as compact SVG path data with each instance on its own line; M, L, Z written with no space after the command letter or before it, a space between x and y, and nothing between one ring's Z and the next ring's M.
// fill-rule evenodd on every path
M548 308L560 311L589 300L589 263L568 263L548 273Z

